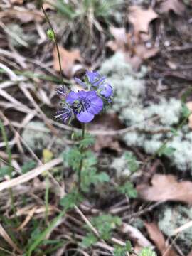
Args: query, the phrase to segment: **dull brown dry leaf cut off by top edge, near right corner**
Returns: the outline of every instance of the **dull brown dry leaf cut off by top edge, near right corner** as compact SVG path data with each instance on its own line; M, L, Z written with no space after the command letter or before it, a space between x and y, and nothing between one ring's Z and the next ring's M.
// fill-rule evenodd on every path
M180 0L165 0L160 8L162 13L174 11L178 16L182 16L185 12L185 6Z

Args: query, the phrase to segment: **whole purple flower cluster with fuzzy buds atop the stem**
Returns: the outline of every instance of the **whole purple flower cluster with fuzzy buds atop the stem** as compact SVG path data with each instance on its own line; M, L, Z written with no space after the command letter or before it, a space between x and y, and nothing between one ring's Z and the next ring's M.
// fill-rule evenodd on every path
M75 78L83 90L66 92L65 88L59 87L56 92L63 100L56 118L65 123L71 122L74 117L82 123L92 121L95 114L99 114L103 107L112 101L112 86L105 80L106 78L96 71L87 71L84 80Z

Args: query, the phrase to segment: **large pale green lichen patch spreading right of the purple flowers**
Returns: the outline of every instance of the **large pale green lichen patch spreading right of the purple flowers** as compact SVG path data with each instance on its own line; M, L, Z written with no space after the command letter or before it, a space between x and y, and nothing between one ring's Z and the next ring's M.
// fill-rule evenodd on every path
M146 69L135 73L131 65L124 60L122 53L117 53L103 63L100 73L107 75L114 88L112 110L127 125L134 126L131 132L124 134L127 146L142 147L147 154L155 154L164 141L172 136L171 131L182 117L181 101L159 97L159 102L145 102L143 76ZM161 132L163 131L163 132ZM164 132L165 131L165 132ZM191 170L192 174L192 132L187 125L182 127L167 146L174 148L168 157L181 171Z

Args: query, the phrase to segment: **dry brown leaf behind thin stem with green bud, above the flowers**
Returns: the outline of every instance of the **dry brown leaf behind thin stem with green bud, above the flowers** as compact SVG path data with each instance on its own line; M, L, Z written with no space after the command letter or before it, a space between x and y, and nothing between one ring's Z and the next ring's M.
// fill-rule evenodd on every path
M81 62L82 58L80 56L79 50L66 50L65 48L59 46L60 51L60 59L63 73L67 78L72 78L74 75L74 67L75 63ZM56 71L60 70L59 61L58 61L58 53L56 47L53 49L53 68Z

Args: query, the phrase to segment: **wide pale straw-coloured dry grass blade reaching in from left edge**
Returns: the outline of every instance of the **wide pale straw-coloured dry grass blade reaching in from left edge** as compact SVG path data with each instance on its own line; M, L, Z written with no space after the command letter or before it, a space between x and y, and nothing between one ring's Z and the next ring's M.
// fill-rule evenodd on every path
M28 173L18 176L17 178L12 178L10 181L4 181L0 183L0 191L3 191L7 188L13 188L14 186L18 186L24 182L30 181L31 179L35 178L36 176L42 174L44 171L48 171L54 166L61 164L63 159L57 158L49 161L46 164L38 166L37 168L28 171Z

